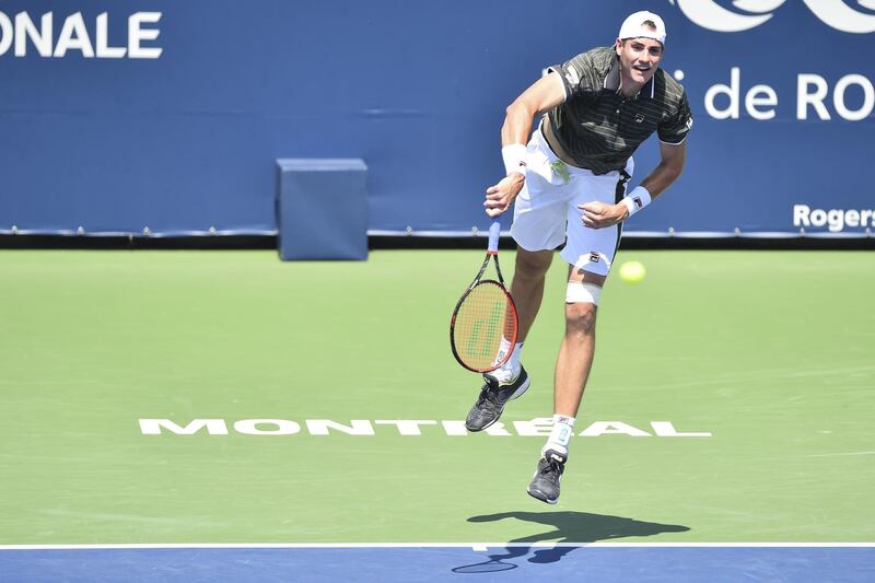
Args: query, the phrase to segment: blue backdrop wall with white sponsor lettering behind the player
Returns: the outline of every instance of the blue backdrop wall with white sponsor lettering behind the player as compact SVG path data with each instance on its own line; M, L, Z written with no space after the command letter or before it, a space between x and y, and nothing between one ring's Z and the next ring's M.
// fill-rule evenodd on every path
M363 159L372 233L483 226L504 107L640 9L695 126L629 231L875 231L875 0L0 1L0 231L273 232L278 158Z

